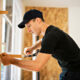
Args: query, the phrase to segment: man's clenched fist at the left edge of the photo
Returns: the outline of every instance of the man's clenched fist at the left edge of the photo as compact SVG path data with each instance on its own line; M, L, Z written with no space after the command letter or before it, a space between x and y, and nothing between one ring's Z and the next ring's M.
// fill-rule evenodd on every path
M6 65L10 65L11 64L11 60L13 58L10 57L8 54L6 53L2 53L1 54L1 62L6 66Z

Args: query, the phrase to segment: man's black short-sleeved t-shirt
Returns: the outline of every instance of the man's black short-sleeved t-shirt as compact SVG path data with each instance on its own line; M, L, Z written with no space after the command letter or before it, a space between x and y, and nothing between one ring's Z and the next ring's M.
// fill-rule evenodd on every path
M59 28L50 25L41 43L41 53L52 54L61 67L80 70L80 49L75 41Z

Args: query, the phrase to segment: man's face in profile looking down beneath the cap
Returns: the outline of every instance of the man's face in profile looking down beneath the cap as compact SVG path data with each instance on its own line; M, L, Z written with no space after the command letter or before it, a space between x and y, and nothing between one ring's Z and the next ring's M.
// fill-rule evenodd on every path
M30 20L27 24L25 24L25 26L27 27L28 32L34 33L37 36L40 35L40 27L37 18Z

